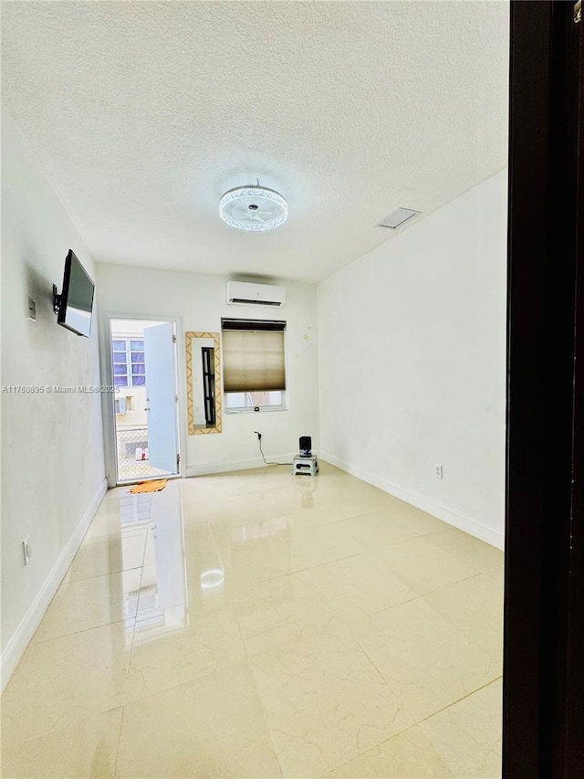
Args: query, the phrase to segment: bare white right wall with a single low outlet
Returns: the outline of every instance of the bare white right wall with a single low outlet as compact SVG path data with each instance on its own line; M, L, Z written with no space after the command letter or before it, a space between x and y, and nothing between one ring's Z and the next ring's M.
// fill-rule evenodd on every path
M321 282L318 354L321 456L502 548L506 172Z

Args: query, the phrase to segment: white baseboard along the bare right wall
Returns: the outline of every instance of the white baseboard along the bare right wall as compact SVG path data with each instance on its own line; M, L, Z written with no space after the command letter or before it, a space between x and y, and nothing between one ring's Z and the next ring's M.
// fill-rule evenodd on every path
M469 517L462 511L453 509L450 506L444 506L442 503L437 503L431 498L426 498L425 495L420 495L417 492L400 487L397 484L393 484L387 479L381 479L381 477L375 476L369 473L363 468L355 468L355 466L344 462L343 460L336 458L334 455L321 453L320 458L326 460L331 465L346 471L351 476L361 479L361 481L367 481L374 487L378 487L384 492L389 492L395 498L404 500L406 503L415 506L416 509L422 509L428 514L432 514L433 517L437 517L439 520L448 522L449 525L453 525L455 528L474 535L475 538L480 539L486 543L490 543L491 546L495 546L497 549L505 548L505 536L503 532L495 531L484 522Z

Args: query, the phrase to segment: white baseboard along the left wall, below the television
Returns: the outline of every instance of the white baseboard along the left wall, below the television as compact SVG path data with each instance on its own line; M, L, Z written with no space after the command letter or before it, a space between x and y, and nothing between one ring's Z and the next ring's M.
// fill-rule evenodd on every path
M81 517L77 528L73 532L73 535L68 540L67 546L59 554L57 562L53 565L53 568L48 574L45 584L42 585L39 592L36 595L35 600L29 606L26 611L24 619L20 625L16 628L14 636L10 639L5 647L2 657L0 658L0 679L2 680L2 690L5 689L8 679L12 676L12 673L18 661L22 658L26 647L30 639L35 635L36 628L40 625L40 621L45 616L48 605L53 600L55 593L57 592L59 584L63 581L63 577L68 572L68 567L71 561L75 557L78 551L79 544L83 541L83 536L89 528L89 524L96 511L98 511L99 504L103 500L103 496L108 490L108 482L103 479L99 485L99 490L95 493L87 511Z

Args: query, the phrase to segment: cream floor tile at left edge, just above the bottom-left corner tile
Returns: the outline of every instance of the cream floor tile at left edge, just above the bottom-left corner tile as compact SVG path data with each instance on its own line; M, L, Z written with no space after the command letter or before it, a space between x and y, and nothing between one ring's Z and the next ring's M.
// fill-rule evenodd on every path
M29 645L2 696L3 747L122 705L132 631L116 623Z

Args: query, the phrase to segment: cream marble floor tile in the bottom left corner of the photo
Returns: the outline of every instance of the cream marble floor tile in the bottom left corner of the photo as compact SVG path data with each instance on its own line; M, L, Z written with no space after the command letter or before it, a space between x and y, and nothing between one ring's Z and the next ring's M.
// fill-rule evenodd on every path
M55 777L116 775L121 708L2 749L2 775Z

